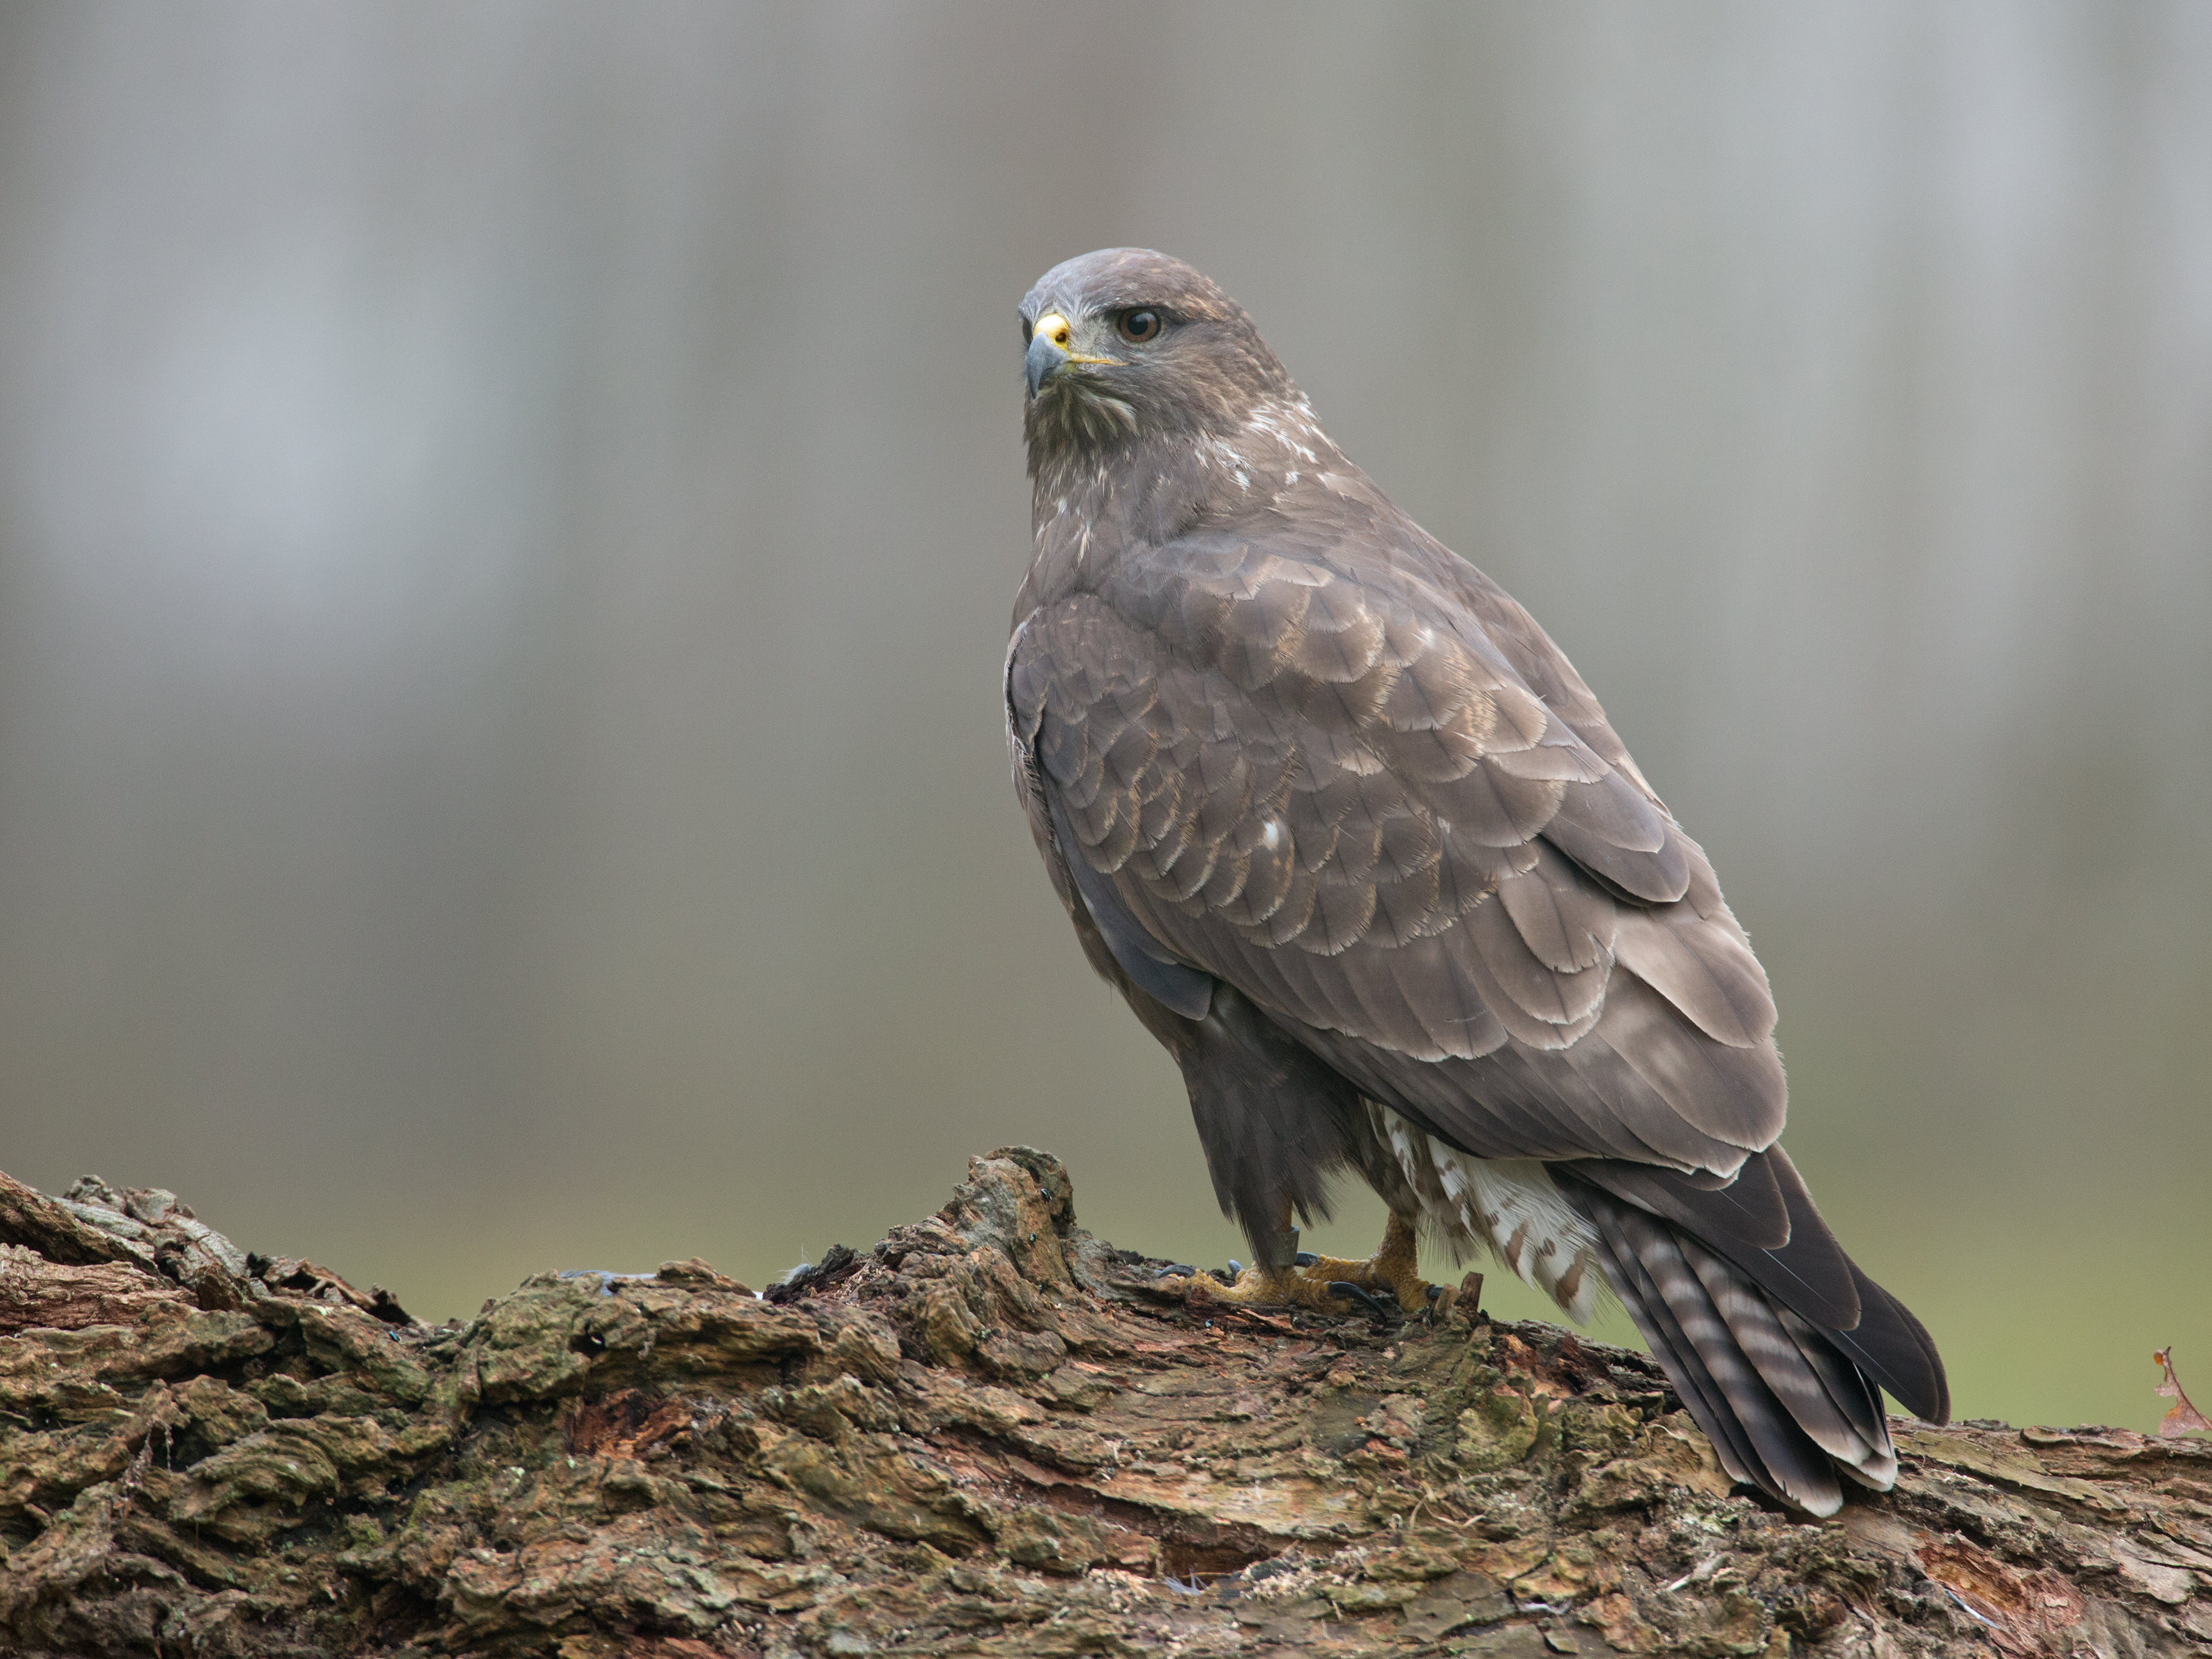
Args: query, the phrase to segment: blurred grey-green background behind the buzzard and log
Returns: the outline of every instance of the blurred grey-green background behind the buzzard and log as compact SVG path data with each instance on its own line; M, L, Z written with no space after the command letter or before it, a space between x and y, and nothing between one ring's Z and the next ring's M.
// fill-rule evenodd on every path
M429 1318L1002 1141L1239 1252L1006 781L1108 243L1606 699L1960 1411L2212 1394L2188 0L0 9L0 1168Z

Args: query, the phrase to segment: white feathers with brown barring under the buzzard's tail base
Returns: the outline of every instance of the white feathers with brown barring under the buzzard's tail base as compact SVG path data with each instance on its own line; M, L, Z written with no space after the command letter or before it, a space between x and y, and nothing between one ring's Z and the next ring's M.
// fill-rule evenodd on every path
M1455 1254L1467 1256L1482 1245L1559 1303L1568 1318L1590 1318L1606 1283L1597 1265L1597 1230L1559 1197L1540 1159L1473 1157L1374 1102L1367 1102L1367 1119L1398 1157L1420 1199L1422 1221Z

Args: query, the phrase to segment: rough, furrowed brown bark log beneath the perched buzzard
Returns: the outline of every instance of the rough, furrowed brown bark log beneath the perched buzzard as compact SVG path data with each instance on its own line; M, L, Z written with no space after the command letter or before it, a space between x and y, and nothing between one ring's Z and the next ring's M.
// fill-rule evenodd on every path
M2212 1648L2203 1442L1900 1420L1896 1493L1803 1522L1641 1356L1146 1279L1026 1148L770 1298L690 1261L465 1325L0 1177L0 1650Z

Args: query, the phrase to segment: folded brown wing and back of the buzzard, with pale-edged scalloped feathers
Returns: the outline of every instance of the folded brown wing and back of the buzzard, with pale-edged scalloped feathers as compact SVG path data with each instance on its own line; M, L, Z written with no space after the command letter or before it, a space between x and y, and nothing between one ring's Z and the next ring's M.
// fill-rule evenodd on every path
M1464 1150L1734 1172L1785 1088L1712 867L1526 613L1378 529L1186 535L1029 615L1040 841Z

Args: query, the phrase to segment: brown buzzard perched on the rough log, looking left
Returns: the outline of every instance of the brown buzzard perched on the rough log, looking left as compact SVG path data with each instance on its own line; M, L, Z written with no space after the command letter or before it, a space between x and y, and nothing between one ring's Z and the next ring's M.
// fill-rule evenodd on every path
M1608 1285L1736 1480L1887 1489L1880 1389L1944 1420L1942 1360L1783 1152L1767 975L1566 655L1190 265L1055 265L1022 343L1015 790L1183 1071L1254 1254L1219 1294L1422 1312L1427 1228L1577 1321ZM1298 1252L1338 1170L1367 1261Z

